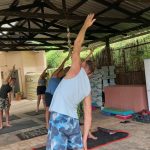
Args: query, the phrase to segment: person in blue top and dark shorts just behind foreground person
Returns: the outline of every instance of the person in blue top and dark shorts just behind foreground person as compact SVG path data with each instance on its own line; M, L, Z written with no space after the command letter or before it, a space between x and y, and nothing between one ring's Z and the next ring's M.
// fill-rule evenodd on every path
M45 111L45 121L46 121L46 128L48 129L49 126L49 106L51 104L51 100L53 97L53 94L60 83L62 77L65 76L65 73L69 70L68 67L64 68L65 62L69 59L70 52L68 56L64 59L64 61L61 63L61 65L54 71L54 73L51 75L51 78L48 80L48 86L45 91L45 103L46 103L46 111Z

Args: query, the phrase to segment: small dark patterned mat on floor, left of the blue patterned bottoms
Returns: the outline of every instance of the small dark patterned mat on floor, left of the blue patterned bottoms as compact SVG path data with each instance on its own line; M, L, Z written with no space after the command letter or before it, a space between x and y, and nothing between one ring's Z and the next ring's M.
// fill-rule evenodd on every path
M19 137L21 140L28 140L37 136L45 135L47 134L47 129L45 127L27 131L27 132L22 132L19 134L16 134L17 137Z

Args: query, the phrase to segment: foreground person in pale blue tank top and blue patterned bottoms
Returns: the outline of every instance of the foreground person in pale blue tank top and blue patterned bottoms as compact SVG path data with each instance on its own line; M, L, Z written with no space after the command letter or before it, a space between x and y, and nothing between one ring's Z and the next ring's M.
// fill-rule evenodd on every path
M79 31L72 52L72 64L59 83L50 105L50 126L46 150L87 150L87 137L91 127L91 87L88 74L94 71L92 61L81 64L80 52L86 30L94 23L89 14ZM83 139L77 115L77 106L84 99Z

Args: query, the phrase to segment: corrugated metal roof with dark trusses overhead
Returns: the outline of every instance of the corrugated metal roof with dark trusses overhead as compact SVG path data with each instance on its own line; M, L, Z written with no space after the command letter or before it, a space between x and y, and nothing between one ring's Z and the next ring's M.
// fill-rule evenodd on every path
M1 27L3 24L17 22L14 27L11 27L12 31L7 28L3 31L1 28L1 42L4 44L11 43L11 39L13 40L16 38L15 42L21 44L24 42L22 39L25 39L26 41L28 38L37 38L39 41L43 41L43 39L40 38L48 38L49 41L54 41L54 44L61 44L64 42L63 38L67 38L67 25L70 27L71 38L75 38L77 31L84 22L84 18L91 12L95 13L97 20L87 31L86 39L88 40L85 41L86 44L89 44L89 41L103 41L106 37L112 38L132 30L136 31L139 30L139 28L150 27L150 1L66 0L65 2L66 10L63 8L62 0L0 1ZM41 9L42 6L43 12ZM8 12L2 14L3 12L1 10L7 10ZM20 11L20 14L18 11ZM47 32L45 32L46 29ZM51 29L55 31L53 32ZM30 32L30 34L28 32ZM7 39L10 41L5 41L7 40L5 38L6 36L3 36L2 33L5 33L8 37ZM20 39L19 36L21 36ZM57 39L59 40L57 41ZM48 40L46 41L48 42Z

